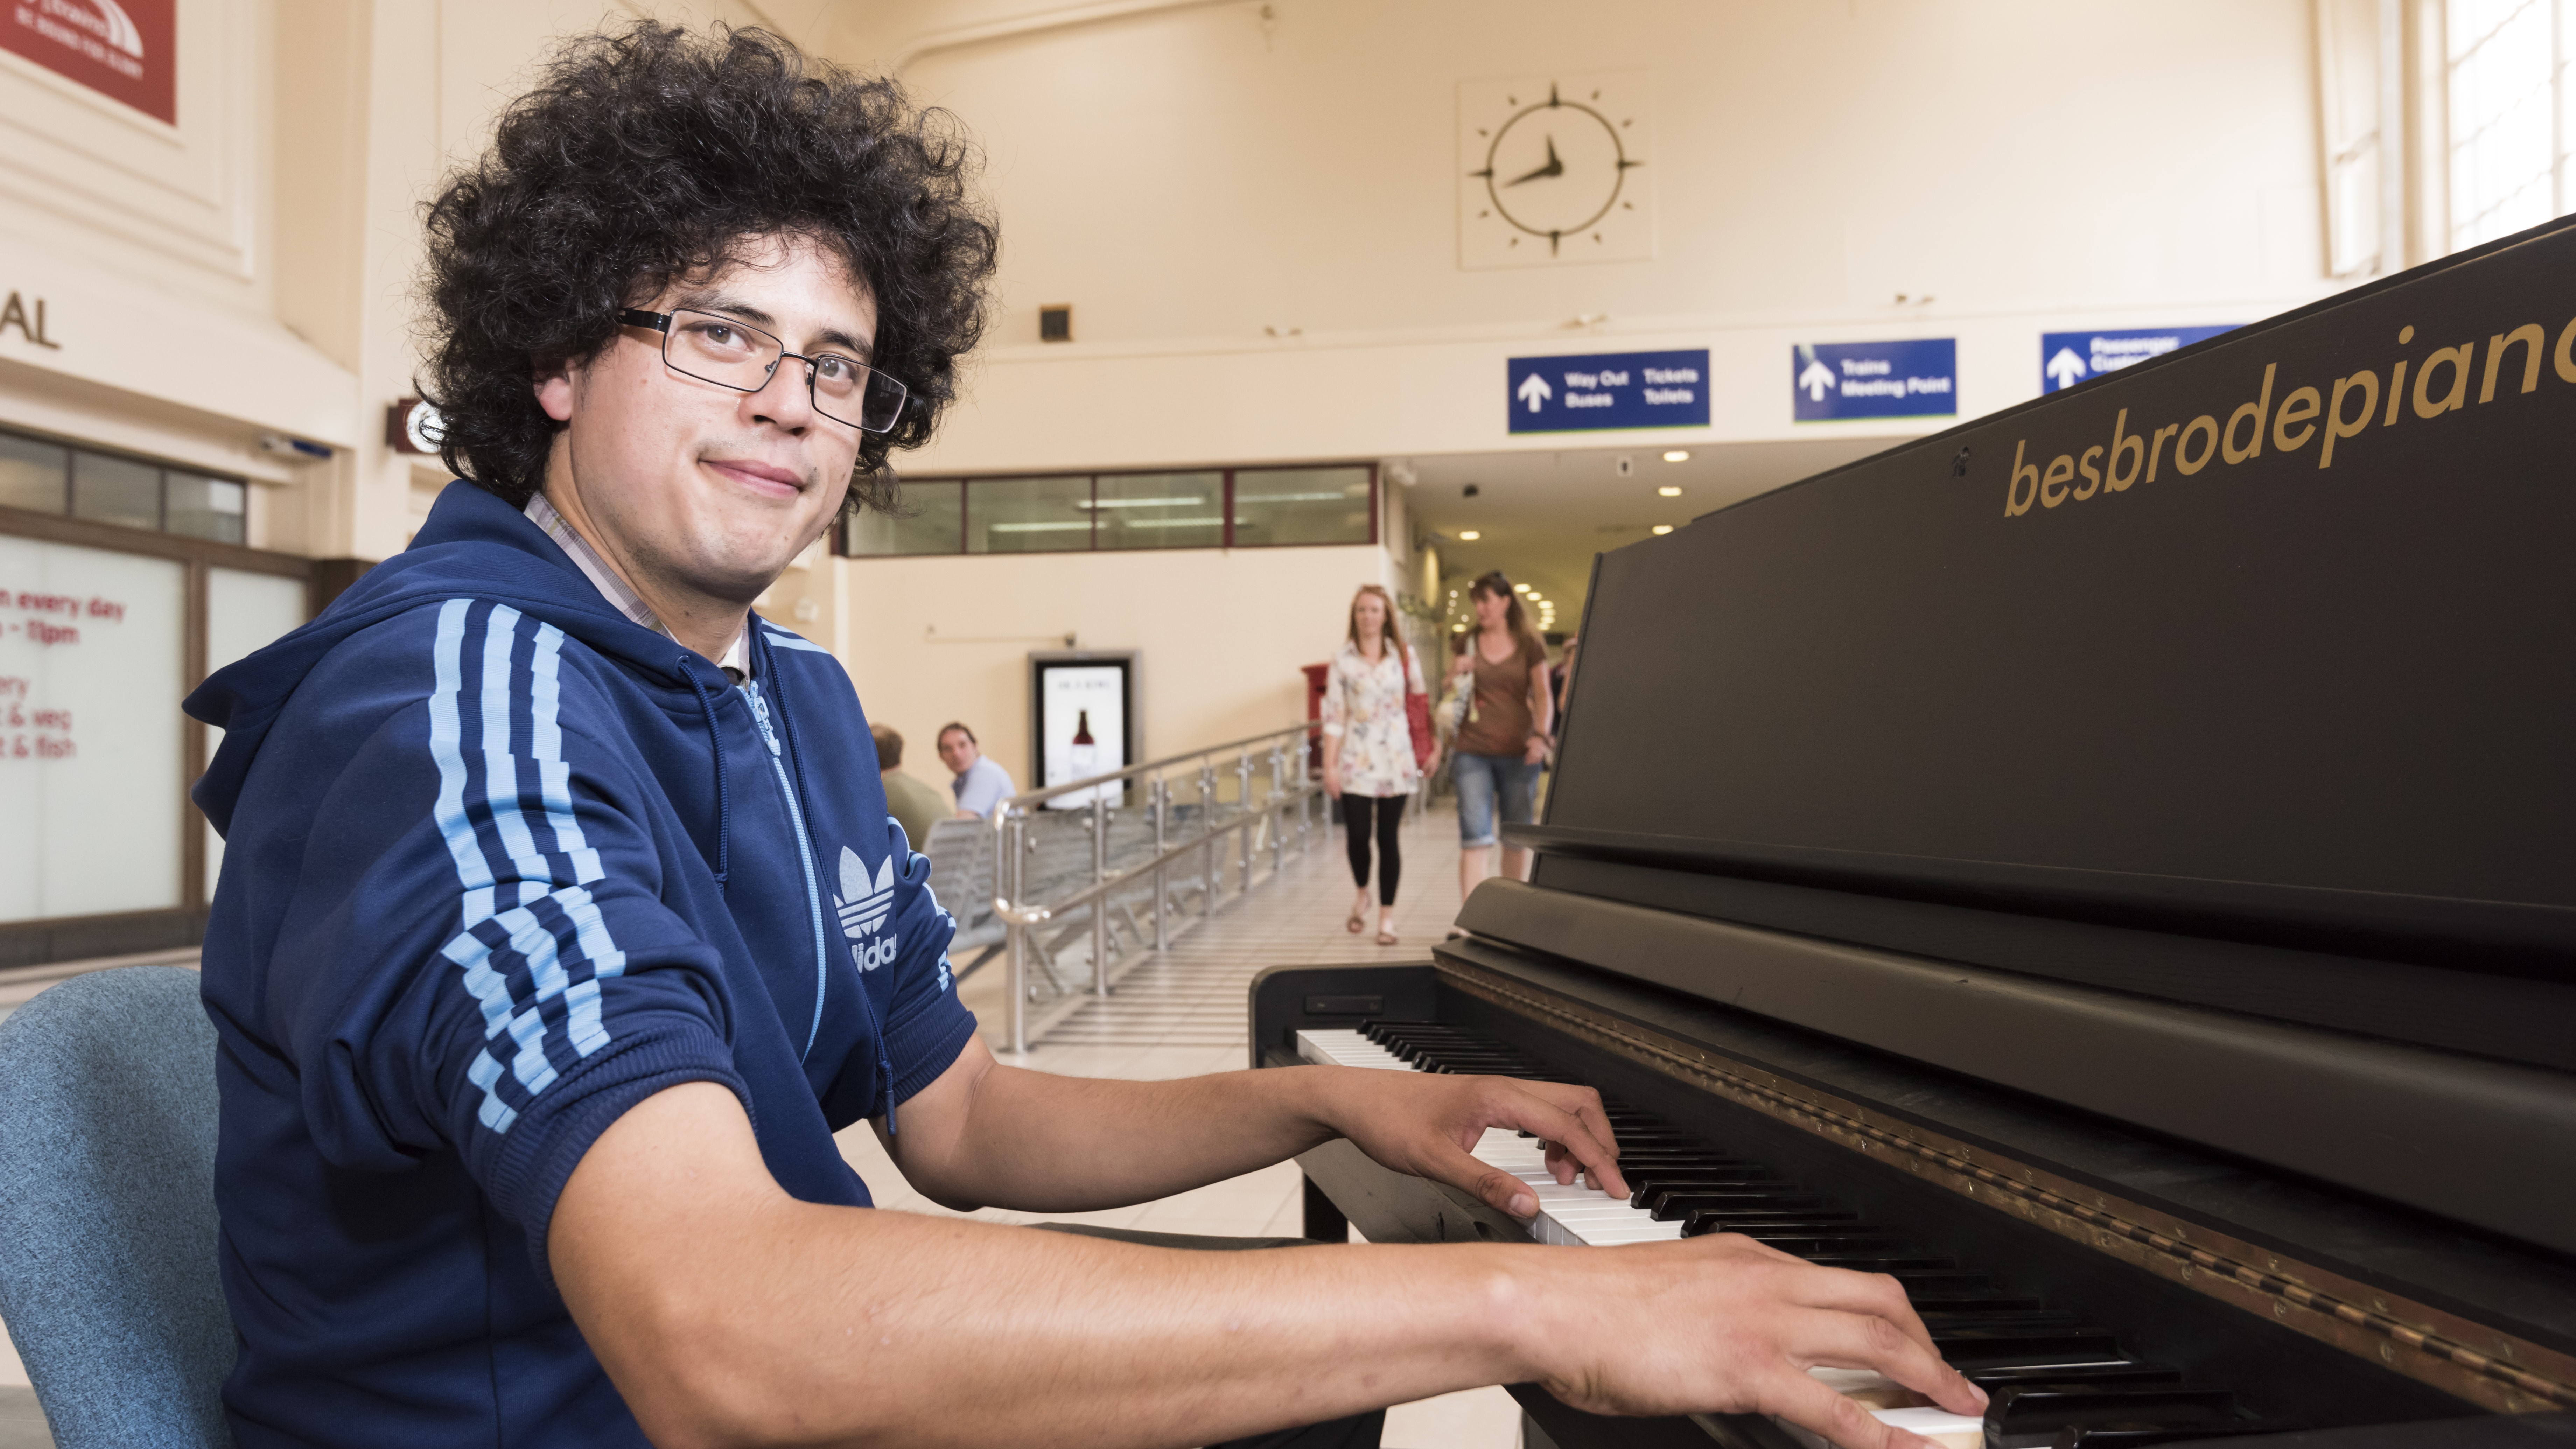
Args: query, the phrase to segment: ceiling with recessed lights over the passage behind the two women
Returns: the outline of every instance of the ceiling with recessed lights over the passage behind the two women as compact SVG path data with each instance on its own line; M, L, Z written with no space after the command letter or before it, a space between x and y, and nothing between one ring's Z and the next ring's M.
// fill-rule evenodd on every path
M1556 601L1556 629L1582 627L1592 554L1646 539L1656 523L1682 526L1703 513L1814 477L1906 438L1798 438L1785 443L1692 443L1685 462L1662 446L1564 449L1515 454L1440 454L1388 459L1386 477L1412 469L1404 492L1414 529L1440 549L1448 588L1502 570ZM1618 474L1618 462L1631 474ZM1476 498L1466 498L1466 487ZM1401 482L1399 482L1401 487ZM1659 487L1680 487L1662 498ZM1476 541L1458 534L1473 529ZM1463 608L1463 598L1458 601Z

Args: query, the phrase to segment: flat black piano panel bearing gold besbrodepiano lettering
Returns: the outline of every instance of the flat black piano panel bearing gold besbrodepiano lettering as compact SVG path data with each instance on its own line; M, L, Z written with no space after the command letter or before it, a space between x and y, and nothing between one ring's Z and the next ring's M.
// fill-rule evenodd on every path
M2568 276L2540 227L1602 554L1530 835L2576 982Z

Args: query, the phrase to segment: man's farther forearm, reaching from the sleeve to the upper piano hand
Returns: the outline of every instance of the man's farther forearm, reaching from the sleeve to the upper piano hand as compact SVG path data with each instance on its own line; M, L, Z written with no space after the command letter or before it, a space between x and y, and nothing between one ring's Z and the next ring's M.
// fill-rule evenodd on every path
M904 1178L961 1209L1090 1212L1267 1168L1329 1140L1340 1067L1133 1083L1005 1067L976 1044L951 1073L976 1073L971 1091L922 1098L963 1096L963 1116L925 1119L907 1104L902 1132L886 1140Z

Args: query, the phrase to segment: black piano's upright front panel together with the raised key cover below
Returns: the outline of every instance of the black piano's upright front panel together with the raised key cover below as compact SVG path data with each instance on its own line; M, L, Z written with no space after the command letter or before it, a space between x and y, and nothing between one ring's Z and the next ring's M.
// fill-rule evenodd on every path
M2576 1253L2571 276L2540 227L1602 554L1538 890L1461 920Z

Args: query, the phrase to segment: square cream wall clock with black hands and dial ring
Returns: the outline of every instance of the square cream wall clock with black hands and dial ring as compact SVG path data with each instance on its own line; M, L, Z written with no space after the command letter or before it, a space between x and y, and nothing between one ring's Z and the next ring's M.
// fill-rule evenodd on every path
M1458 88L1458 266L1654 255L1646 72Z

